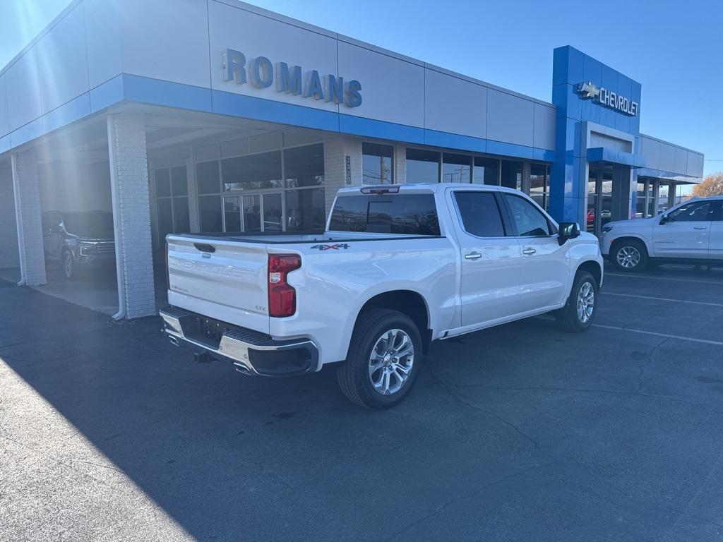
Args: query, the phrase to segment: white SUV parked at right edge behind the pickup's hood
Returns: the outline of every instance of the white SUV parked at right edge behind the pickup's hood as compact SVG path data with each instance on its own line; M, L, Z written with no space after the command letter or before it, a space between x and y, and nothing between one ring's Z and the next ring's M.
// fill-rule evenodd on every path
M723 196L689 199L654 218L609 222L600 251L621 271L664 262L723 265Z

